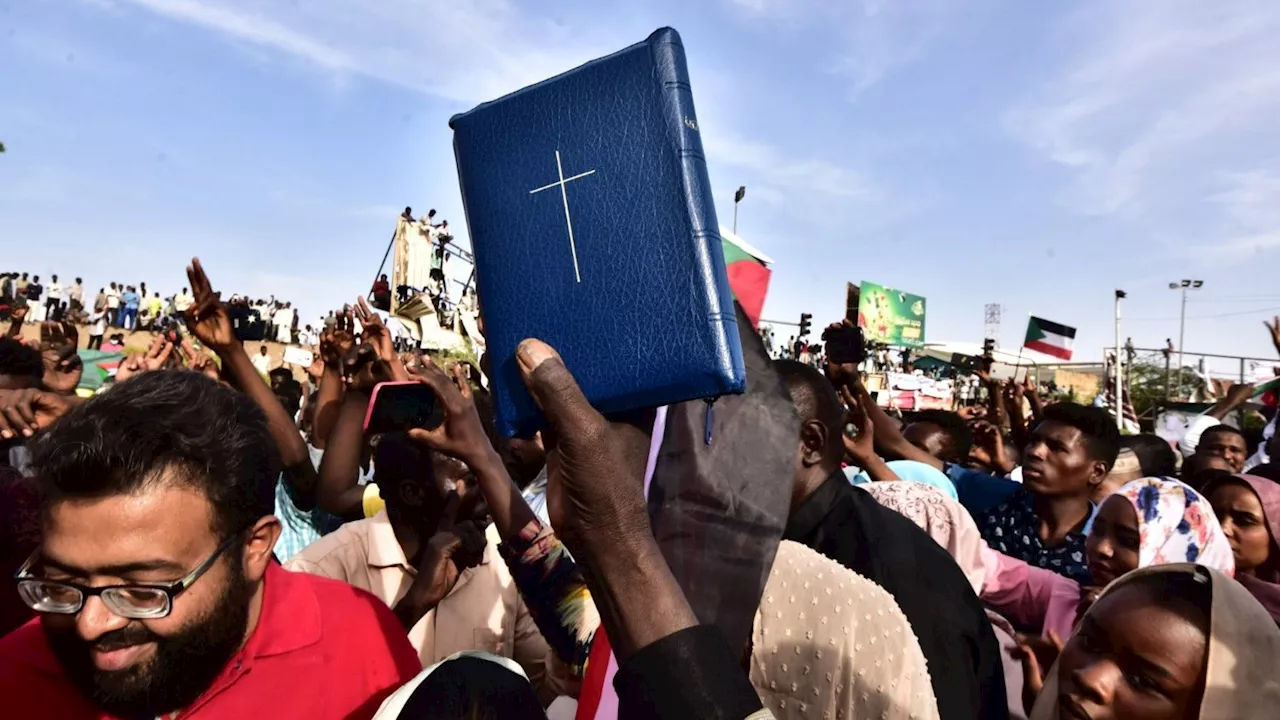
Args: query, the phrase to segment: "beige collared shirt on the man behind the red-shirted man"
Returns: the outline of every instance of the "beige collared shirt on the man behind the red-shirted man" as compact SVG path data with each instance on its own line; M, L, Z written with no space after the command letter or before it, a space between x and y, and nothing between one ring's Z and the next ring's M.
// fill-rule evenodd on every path
M540 696L554 697L558 687L547 684L550 648L498 553L502 542L498 530L489 525L485 537L489 543L484 560L458 575L453 591L413 625L408 639L424 667L456 652L492 652L518 662ZM396 607L408 593L416 575L385 510L367 520L344 524L305 547L284 566L349 583L378 596L389 607Z

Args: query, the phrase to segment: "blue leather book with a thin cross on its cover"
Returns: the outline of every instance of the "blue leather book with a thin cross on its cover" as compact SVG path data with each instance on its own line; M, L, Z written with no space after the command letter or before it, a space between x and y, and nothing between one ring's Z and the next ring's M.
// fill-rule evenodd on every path
M602 413L746 386L685 50L675 29L449 120L498 429L543 424L536 337Z

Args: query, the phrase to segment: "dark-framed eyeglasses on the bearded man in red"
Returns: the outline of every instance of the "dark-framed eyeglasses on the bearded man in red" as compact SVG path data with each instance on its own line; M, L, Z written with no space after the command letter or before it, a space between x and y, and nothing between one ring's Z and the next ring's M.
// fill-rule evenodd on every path
M218 550L191 571L186 578L166 584L128 584L106 585L88 588L74 583L59 580L46 580L32 577L29 569L40 553L37 550L22 564L14 574L18 583L18 594L22 601L36 612L51 612L55 615L74 615L84 607L84 598L99 596L102 603L120 618L131 620L155 620L166 618L173 611L173 600L195 584L201 575L214 566L214 562L241 539L241 533L223 541Z

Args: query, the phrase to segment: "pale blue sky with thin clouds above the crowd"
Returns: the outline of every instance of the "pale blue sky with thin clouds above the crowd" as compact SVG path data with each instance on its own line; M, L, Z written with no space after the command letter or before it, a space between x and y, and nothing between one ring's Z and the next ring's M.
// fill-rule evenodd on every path
M605 6L608 5L608 6ZM718 210L774 260L764 315L846 281L929 341L1028 314L1274 355L1280 4L1175 0L29 0L0 6L4 265L308 315L367 288L404 205L461 225L449 115L676 27ZM1225 364L1213 369L1230 370Z

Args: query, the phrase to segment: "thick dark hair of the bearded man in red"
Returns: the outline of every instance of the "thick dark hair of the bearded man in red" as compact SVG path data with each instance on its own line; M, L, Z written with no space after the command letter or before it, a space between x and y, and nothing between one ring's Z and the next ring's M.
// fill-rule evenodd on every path
M275 509L280 459L266 415L201 373L157 370L72 410L32 448L46 507L141 492L157 482L201 492L228 538Z

